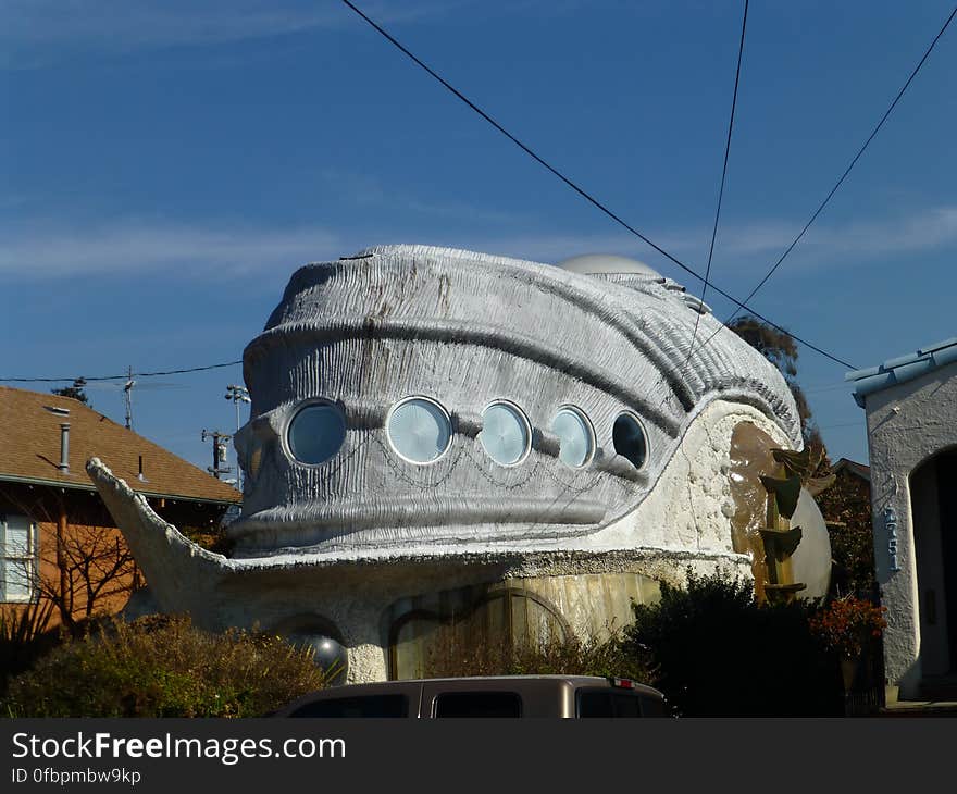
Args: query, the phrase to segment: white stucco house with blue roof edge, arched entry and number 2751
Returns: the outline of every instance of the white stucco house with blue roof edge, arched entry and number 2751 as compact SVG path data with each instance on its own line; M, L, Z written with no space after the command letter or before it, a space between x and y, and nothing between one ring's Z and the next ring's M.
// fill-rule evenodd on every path
M934 697L957 680L957 338L847 380L867 411L888 682Z

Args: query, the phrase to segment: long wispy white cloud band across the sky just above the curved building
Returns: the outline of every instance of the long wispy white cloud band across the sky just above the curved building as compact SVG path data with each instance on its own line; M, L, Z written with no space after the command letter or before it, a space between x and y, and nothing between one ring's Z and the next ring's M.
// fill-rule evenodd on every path
M377 200L377 199L376 199ZM465 208L464 211L471 211ZM481 211L476 211L481 214ZM65 275L130 275L160 272L179 278L235 277L262 272L288 273L309 261L348 256L361 248L388 243L421 243L470 248L538 262L558 262L587 252L608 252L661 262L657 255L627 234L488 234L488 224L473 232L435 232L426 223L398 234L382 224L346 231L308 225L294 227L209 226L199 224L117 221L63 227L34 223L20 232L7 229L0 244L0 278L37 280ZM512 226L513 228L513 226ZM423 231L425 229L425 231ZM762 272L793 239L791 227L754 223L729 227L719 244L721 272ZM698 234L651 235L692 268L701 262L686 256L706 250ZM691 240L696 240L694 244ZM896 219L861 220L815 229L788 268L805 271L836 263L848 266L880 257L919 255L957 244L957 207L936 207Z

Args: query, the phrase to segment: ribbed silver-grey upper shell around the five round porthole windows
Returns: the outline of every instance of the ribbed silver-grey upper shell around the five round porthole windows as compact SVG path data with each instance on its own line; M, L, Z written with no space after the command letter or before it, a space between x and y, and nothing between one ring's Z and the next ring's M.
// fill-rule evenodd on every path
M260 462L231 528L237 554L587 535L648 496L716 399L756 408L799 447L780 373L688 297L651 271L588 275L423 246L301 268L244 355L253 404L237 448ZM455 430L428 466L400 459L385 427L412 396L442 405ZM320 466L298 463L286 437L310 400L339 406L346 424L341 449ZM530 422L521 466L483 451L483 411L496 400ZM550 435L567 405L594 427L596 448L579 469L560 461ZM616 452L622 412L644 426L641 468Z

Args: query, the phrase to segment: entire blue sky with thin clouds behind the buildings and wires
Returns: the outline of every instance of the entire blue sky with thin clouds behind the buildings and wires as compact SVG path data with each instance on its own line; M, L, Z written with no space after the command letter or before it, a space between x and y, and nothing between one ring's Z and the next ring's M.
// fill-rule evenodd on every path
M750 291L952 2L751 3L716 284ZM704 272L743 3L358 4ZM957 334L955 28L754 300L856 367ZM622 253L700 294L334 0L0 0L0 377L238 359L297 266L376 244ZM866 460L845 368L799 370L832 457ZM206 467L229 383L141 379L135 429ZM119 387L89 395L123 421Z

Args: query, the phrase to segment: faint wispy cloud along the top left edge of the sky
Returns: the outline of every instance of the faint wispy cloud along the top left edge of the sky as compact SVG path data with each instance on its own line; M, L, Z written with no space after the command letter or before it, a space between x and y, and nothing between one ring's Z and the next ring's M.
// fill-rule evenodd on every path
M396 23L460 4L373 0L363 10ZM355 23L343 4L315 0L0 0L0 64L29 69L82 51L197 47Z

